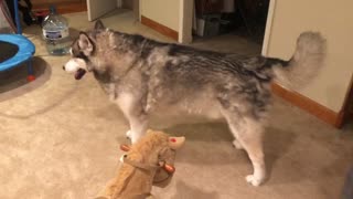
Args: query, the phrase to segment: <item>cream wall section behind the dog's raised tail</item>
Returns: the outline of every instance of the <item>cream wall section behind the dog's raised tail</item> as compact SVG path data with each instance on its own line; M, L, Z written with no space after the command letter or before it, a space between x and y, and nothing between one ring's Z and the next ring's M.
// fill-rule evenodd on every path
M274 0L271 0L274 1ZM340 112L353 74L352 0L276 0L264 53L290 59L297 36L320 31L328 40L328 56L318 77L298 93Z

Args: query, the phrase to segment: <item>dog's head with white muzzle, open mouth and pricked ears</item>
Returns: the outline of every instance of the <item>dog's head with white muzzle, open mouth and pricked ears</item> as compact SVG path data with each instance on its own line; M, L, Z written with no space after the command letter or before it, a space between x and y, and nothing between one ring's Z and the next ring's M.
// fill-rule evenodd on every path
M63 70L74 73L76 80L81 80L87 71L93 71L94 65L90 57L95 54L96 44L90 35L103 30L105 27L98 20L92 32L79 32L78 38L73 42L69 50L72 59L64 64Z

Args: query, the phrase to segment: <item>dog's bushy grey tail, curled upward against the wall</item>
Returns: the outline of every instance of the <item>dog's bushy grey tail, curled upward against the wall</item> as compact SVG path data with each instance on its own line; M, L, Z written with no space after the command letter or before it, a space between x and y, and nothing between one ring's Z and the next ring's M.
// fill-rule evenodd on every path
M289 88L301 87L318 74L324 57L325 40L321 34L303 32L297 40L293 56L272 66L275 80Z

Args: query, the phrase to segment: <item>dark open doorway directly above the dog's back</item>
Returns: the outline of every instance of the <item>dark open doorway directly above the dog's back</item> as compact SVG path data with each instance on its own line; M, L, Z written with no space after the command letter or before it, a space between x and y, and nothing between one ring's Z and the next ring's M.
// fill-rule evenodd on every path
M193 43L237 44L245 39L257 44L260 53L265 41L270 0L194 0Z

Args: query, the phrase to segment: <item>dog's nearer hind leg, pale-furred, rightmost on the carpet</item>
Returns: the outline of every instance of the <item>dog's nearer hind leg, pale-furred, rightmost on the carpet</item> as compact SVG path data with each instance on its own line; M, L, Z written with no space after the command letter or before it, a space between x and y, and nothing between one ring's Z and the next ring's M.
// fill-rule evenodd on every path
M263 151L263 130L264 127L259 121L250 115L240 115L239 113L229 113L223 111L238 144L247 151L254 174L246 177L246 181L253 186L259 186L266 178L266 167Z

